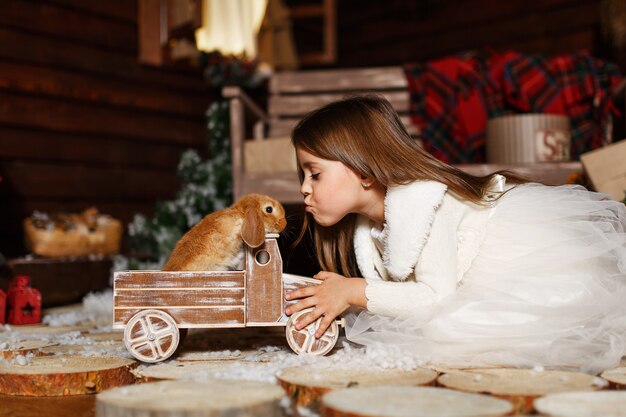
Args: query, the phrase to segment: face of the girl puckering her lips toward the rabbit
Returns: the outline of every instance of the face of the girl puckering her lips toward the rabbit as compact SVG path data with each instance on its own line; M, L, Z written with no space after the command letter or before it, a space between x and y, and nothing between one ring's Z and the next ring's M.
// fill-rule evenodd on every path
M304 171L300 192L306 211L322 226L332 226L348 213L362 212L363 179L339 161L329 161L296 149Z

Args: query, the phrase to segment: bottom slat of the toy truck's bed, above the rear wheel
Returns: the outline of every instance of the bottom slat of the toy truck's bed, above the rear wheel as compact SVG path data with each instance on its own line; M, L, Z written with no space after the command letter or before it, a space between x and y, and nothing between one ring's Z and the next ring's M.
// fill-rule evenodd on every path
M179 328L190 327L244 327L243 306L211 306L211 307L150 307L164 311L174 318ZM132 316L145 310L137 307L115 307L113 310L113 327L123 328Z

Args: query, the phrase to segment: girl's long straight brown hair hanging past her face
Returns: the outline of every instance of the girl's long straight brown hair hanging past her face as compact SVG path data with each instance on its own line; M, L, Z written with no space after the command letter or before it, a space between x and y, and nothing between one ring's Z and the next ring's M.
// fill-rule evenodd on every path
M425 152L406 131L391 104L375 95L347 98L309 113L294 128L292 142L295 148L339 161L357 175L374 178L385 188L437 181L457 197L476 204L484 204L483 196L493 175L467 174ZM510 172L497 173L505 174L508 182L525 182ZM304 172L300 167L298 175L302 182ZM356 214L349 214L333 226L322 227L307 214L297 242L312 224L322 269L356 276L352 242L355 222Z

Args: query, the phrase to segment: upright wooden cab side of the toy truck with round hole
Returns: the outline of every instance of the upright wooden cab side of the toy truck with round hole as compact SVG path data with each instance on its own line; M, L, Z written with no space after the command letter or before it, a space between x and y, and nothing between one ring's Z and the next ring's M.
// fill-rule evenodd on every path
M247 251L246 325L280 321L284 312L282 270L283 260L275 238L266 238L263 246Z

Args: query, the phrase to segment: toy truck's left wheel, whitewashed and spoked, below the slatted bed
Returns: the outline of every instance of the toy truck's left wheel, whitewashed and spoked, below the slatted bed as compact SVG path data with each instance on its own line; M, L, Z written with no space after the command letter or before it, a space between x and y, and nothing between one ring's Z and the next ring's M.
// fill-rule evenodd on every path
M174 353L180 335L176 322L164 311L143 310L135 314L124 329L124 345L142 362L160 362Z

